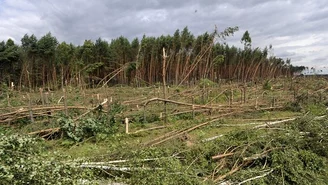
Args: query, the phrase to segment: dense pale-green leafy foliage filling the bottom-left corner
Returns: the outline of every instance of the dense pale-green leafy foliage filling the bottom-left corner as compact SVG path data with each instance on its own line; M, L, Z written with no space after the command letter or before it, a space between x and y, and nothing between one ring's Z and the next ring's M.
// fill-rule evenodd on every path
M37 139L10 135L0 136L1 184L78 184L89 179L73 165L42 155L42 144Z

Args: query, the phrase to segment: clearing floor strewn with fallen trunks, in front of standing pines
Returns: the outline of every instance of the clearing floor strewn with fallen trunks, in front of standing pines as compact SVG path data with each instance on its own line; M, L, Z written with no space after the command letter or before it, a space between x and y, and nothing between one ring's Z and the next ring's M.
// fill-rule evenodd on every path
M323 78L205 80L192 87L167 87L166 99L161 84L7 90L1 95L1 133L42 138L47 159L60 156L61 162L94 170L97 182L298 184L313 178L319 184L327 182L327 167L320 166L326 166L327 152L308 149L302 140L304 133L327 128L327 122L315 126L313 121L326 119L328 81ZM318 130L302 130L304 122ZM328 147L326 133L319 139L323 149ZM303 149L321 153L304 154ZM297 170L283 166L302 156L315 161L311 168L318 171L316 175L307 166ZM307 176L299 178L302 174Z

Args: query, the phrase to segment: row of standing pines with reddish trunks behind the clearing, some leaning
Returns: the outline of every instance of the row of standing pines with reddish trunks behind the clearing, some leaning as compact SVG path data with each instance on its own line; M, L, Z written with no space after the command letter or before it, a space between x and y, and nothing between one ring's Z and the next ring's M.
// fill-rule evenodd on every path
M238 28L194 36L187 27L173 36L148 37L131 42L121 36L110 43L99 38L82 46L59 43L51 33L40 39L25 34L21 44L0 42L0 83L19 89L58 89L65 85L90 87L109 84L151 85L162 81L163 48L166 81L187 84L207 78L214 82L241 82L290 76L304 67L270 56L269 48L252 48L245 32L244 48L228 46L226 37Z

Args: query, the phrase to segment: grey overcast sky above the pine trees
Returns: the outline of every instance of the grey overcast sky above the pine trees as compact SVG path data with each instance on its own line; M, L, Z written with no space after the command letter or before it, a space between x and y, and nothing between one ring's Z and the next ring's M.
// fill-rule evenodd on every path
M60 42L83 44L172 35L185 26L199 35L215 25L240 28L228 44L240 46L248 30L252 47L272 44L293 65L328 66L328 0L0 0L0 41L17 44L25 33L50 31Z

